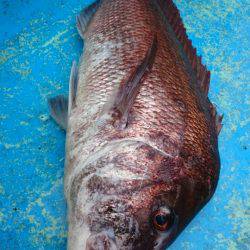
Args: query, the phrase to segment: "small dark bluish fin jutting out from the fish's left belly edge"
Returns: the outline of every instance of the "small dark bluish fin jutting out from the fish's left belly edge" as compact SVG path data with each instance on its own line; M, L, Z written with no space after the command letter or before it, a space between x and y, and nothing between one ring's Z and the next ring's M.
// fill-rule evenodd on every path
M64 130L68 123L68 98L59 95L48 100L50 114L56 123Z

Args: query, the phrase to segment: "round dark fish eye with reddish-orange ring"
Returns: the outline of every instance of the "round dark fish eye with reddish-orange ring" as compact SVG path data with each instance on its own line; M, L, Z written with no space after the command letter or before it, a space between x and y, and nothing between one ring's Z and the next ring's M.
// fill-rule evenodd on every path
M153 226L159 231L169 230L175 221L175 213L169 208L159 208L153 213Z

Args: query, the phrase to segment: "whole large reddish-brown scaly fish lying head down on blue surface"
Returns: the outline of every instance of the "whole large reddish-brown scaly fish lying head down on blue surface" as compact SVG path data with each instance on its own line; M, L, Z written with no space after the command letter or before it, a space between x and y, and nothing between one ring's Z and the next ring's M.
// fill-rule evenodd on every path
M49 99L66 130L67 249L166 249L219 179L210 71L172 0L97 1L76 23L69 95Z

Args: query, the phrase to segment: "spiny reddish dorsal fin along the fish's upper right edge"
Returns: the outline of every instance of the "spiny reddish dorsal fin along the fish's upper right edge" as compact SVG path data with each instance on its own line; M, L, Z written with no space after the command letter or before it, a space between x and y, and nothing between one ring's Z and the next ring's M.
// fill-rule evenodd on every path
M210 85L210 71L202 64L201 56L197 55L196 49L189 40L178 8L172 0L157 0L157 3L181 43L190 65L196 73L201 89L207 95Z

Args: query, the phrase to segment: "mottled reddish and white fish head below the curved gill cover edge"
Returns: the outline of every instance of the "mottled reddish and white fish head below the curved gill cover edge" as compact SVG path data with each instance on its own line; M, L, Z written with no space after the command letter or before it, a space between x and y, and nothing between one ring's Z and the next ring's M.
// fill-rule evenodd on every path
M165 249L209 193L182 159L149 145L115 147L88 168L75 208L87 250Z

